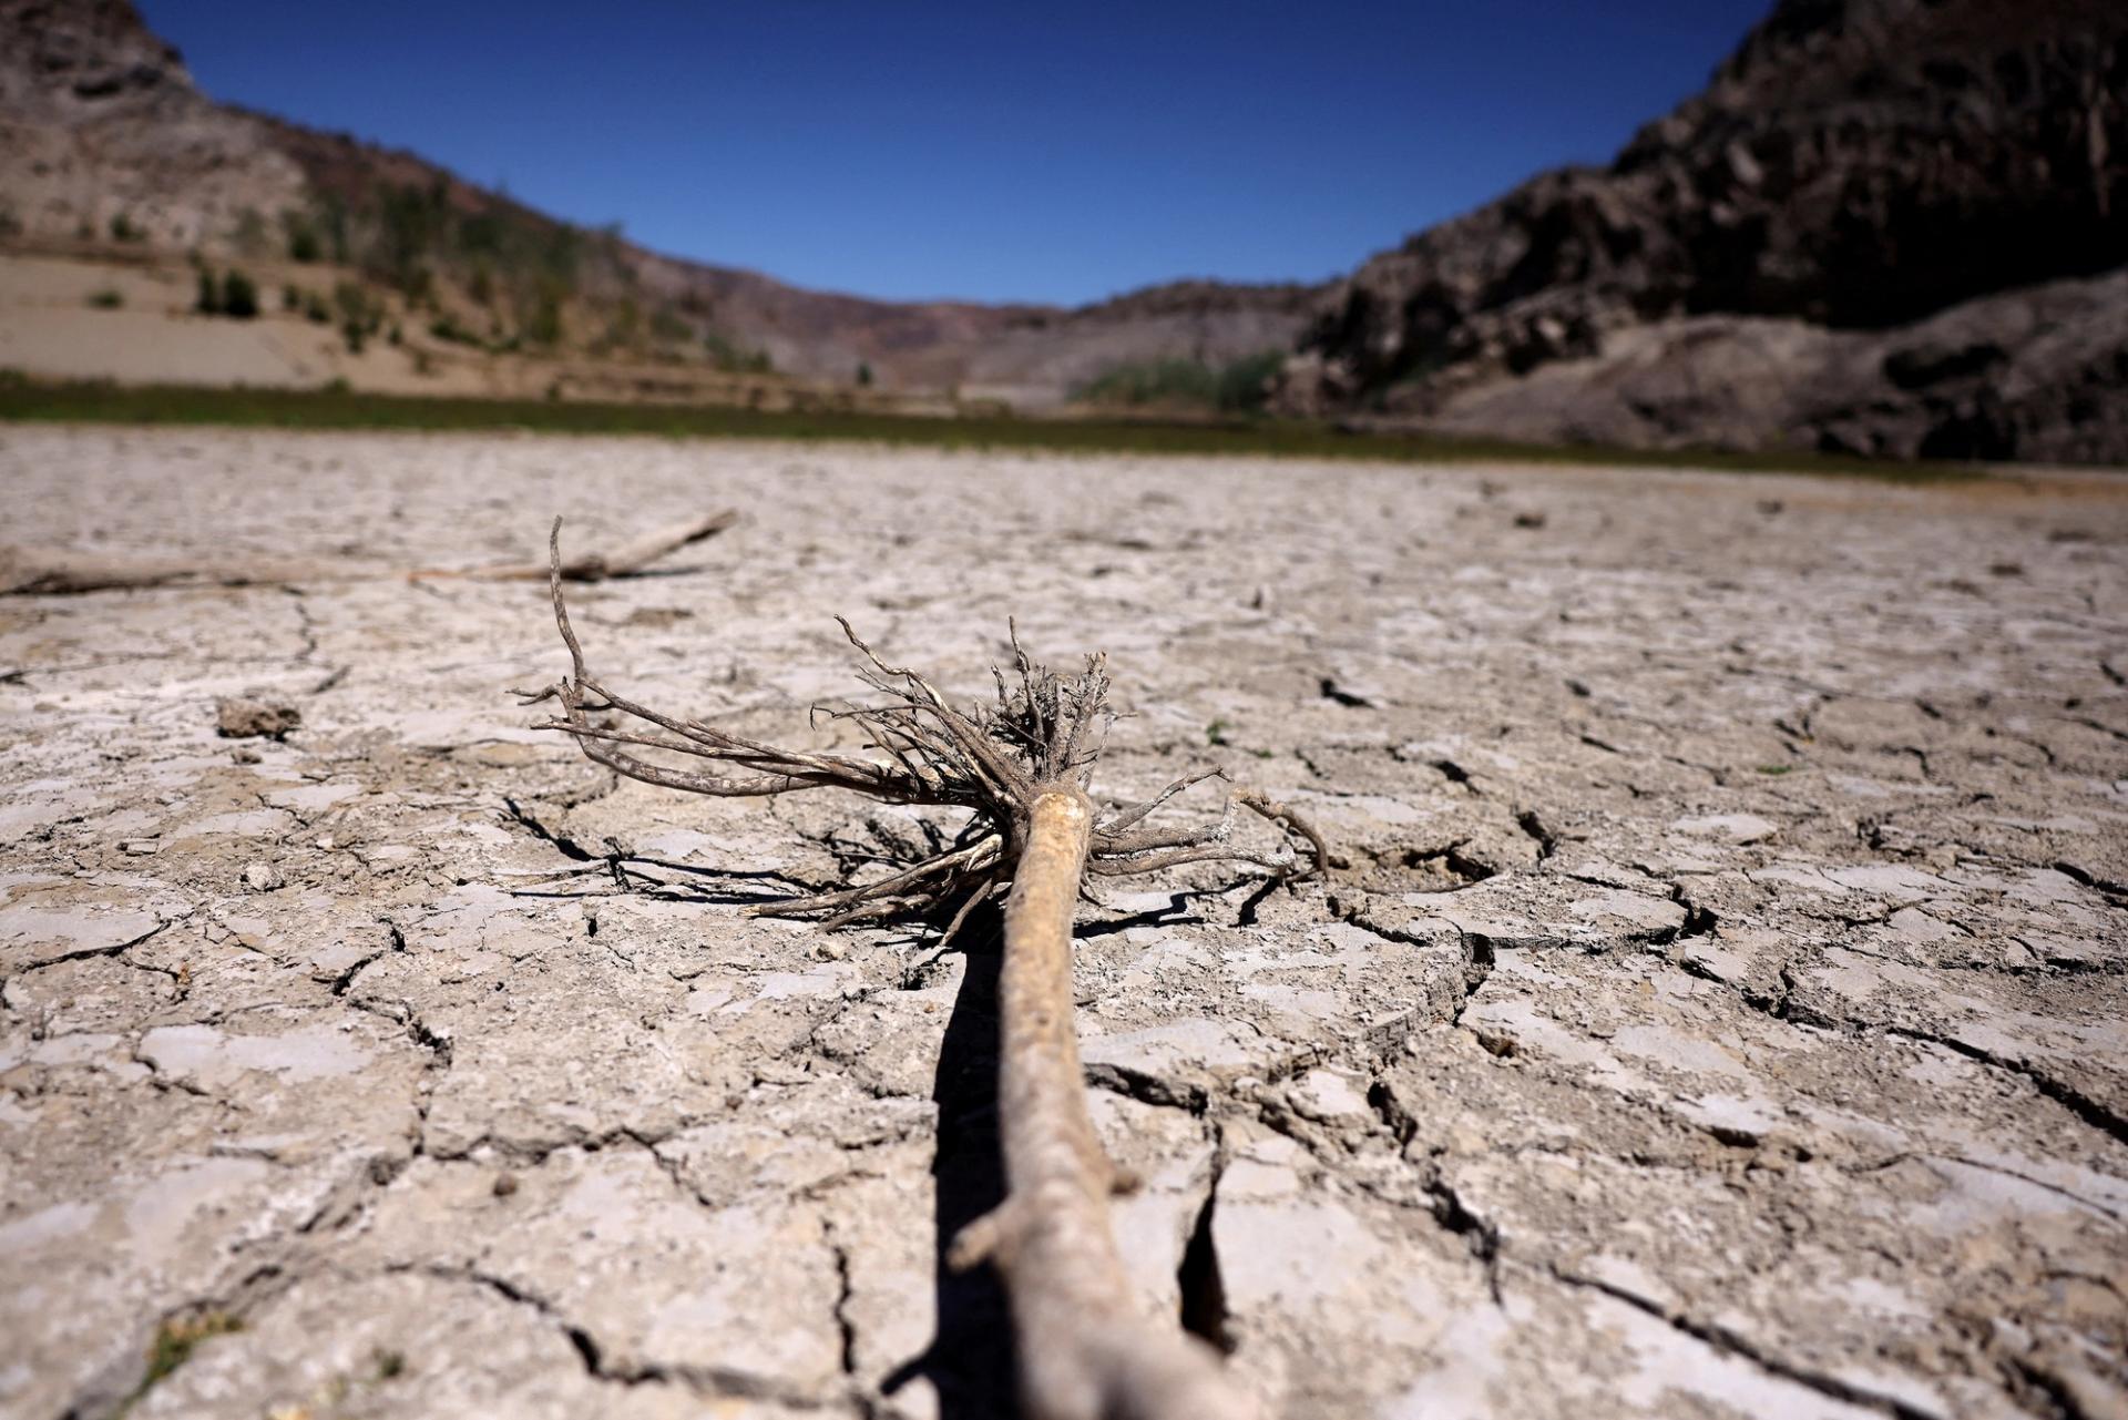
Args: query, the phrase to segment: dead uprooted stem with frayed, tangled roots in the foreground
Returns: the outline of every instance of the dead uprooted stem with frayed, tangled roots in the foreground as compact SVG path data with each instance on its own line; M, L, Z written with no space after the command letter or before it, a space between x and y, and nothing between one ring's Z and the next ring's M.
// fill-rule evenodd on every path
M860 679L883 698L832 711L872 758L787 749L628 700L585 668L562 596L562 524L549 539L549 588L570 675L526 696L558 703L541 728L630 779L713 796L775 796L838 788L881 803L966 811L947 847L885 877L755 907L830 926L953 909L947 937L1011 884L1000 977L1000 1128L1007 1199L953 1239L951 1262L992 1262L1013 1301L1021 1399L1032 1420L1234 1420L1256 1405L1217 1354L1175 1324L1147 1318L1130 1290L1109 1226L1115 1171L1085 1111L1073 1024L1073 911L1092 875L1132 875L1187 862L1238 862L1279 877L1324 866L1321 835L1256 792L1230 796L1217 822L1153 828L1147 820L1217 771L1185 775L1151 798L1102 815L1087 796L1113 720L1107 662L1079 675L1036 666L1013 637L996 703L968 711L907 666L890 666L849 622L864 656ZM594 720L600 715L602 720ZM643 752L660 754L645 758ZM666 758L702 762L681 769ZM1232 841L1234 805L1275 824L1275 852ZM1294 852L1307 847L1307 864Z

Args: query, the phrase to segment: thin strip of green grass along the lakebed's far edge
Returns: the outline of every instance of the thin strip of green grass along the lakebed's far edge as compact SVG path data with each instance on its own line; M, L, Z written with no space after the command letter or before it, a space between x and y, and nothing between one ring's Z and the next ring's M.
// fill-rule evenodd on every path
M1647 451L1547 447L1345 430L1300 419L1028 419L919 417L845 411L749 411L702 404L432 398L345 390L217 390L196 385L43 383L0 373L0 419L66 424L226 424L306 430L532 430L543 434L658 434L668 439L794 439L943 449L1073 453L1230 453L1351 458L1417 464L1543 462L1734 473L1832 473L1892 481L1983 477L1956 464L1894 464L1819 453Z

